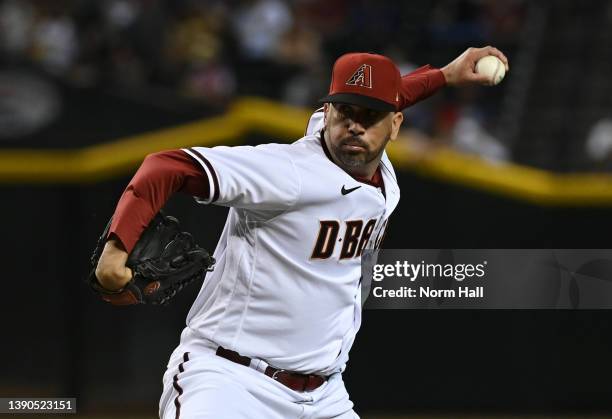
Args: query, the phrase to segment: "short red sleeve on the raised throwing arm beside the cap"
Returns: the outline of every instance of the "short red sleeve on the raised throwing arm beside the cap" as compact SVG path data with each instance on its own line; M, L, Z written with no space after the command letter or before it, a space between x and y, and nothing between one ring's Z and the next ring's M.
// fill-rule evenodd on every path
M400 109L405 109L427 99L446 85L444 74L430 65L417 68L402 76Z

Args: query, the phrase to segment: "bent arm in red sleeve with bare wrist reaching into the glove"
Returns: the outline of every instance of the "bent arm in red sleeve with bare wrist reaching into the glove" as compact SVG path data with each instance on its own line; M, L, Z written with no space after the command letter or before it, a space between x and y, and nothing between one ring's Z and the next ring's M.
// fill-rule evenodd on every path
M128 254L155 214L175 192L208 198L208 178L181 150L148 155L121 195L98 266L96 277L104 288L118 290L132 278L125 266Z

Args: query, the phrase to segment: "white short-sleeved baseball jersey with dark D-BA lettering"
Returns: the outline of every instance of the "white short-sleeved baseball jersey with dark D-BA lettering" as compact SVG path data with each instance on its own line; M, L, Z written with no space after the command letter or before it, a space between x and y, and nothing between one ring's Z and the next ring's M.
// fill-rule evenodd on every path
M204 342L276 368L344 370L361 324L361 252L380 242L399 201L386 154L384 187L337 166L322 112L293 144L195 147L212 203L231 207L178 350Z

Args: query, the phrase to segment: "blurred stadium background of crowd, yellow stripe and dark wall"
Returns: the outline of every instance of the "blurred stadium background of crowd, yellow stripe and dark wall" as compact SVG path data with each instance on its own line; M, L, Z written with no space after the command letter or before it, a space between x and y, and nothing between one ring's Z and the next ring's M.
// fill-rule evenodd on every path
M82 282L146 153L299 138L347 51L406 73L487 44L501 85L406 111L385 247L612 248L611 2L0 0L0 396L156 415L197 287L117 309ZM215 246L226 210L168 211ZM366 419L612 417L611 320L369 311L345 380Z

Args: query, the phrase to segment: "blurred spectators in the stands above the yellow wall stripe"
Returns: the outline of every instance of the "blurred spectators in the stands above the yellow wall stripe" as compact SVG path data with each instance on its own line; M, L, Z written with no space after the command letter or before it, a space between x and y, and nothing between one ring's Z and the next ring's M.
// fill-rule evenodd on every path
M238 95L313 106L344 52L390 55L404 73L468 45L511 54L524 9L523 0L1 0L0 50L5 65L73 86L166 89L217 107ZM503 159L487 132L500 97L445 91L408 120L468 149L484 141L479 149Z

